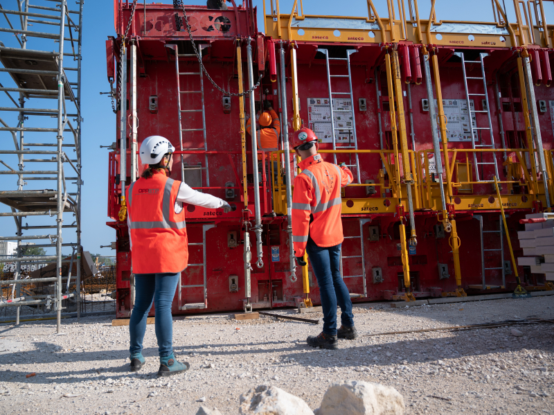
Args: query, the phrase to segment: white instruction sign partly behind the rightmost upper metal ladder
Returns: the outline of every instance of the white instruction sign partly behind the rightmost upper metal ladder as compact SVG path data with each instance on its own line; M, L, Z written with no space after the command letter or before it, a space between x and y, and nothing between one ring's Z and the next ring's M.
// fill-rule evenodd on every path
M475 109L474 101L470 100L472 111ZM446 129L448 141L472 141L470 116L467 112L466 100L443 100L443 107L446 116ZM435 100L435 111L438 114L437 100ZM473 127L475 128L475 115L472 116ZM440 125L437 123L437 131L440 136ZM477 132L474 131L475 140L478 141Z

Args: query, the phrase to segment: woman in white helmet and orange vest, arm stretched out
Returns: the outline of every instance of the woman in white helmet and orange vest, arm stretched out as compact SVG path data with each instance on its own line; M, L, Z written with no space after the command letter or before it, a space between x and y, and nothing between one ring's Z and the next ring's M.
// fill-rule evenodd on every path
M177 362L172 349L171 306L179 274L188 265L183 203L231 211L231 206L219 197L197 192L186 183L169 178L174 151L162 136L145 139L140 154L148 168L127 188L127 224L136 292L129 321L131 371L138 371L145 363L142 349L146 318L154 301L160 356L158 376L181 373L189 367L186 362Z

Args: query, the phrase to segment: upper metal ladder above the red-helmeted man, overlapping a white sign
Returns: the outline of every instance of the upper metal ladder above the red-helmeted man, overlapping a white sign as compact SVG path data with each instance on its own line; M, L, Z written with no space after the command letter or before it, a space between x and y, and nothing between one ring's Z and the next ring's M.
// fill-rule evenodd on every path
M357 50L348 49L346 51L346 58L329 58L329 51L327 49L318 49L317 51L321 52L321 53L323 53L323 55L325 55L325 64L327 66L327 82L328 82L328 87L329 87L329 105L330 105L330 109L331 109L331 130L332 130L332 137L333 137L333 150L337 150L337 141L335 139L335 133L337 131L342 131L342 130L352 131L352 136L354 138L354 145L341 145L339 147L339 149L344 150L344 149L351 148L352 150L358 150L358 140L357 140L357 136L356 136L356 120L355 120L355 114L354 114L354 96L352 95L352 72L350 70L350 55L352 55L352 53L356 53ZM348 75L331 75L331 68L329 66L329 61L330 60L346 61L347 66L348 66ZM348 92L333 92L332 89L331 89L331 78L348 78L349 91ZM333 110L333 96L335 96L335 95L348 95L348 96L350 96L350 103L352 103L351 112L350 111L345 111L345 110L342 110L342 111L334 111ZM334 114L337 113L337 112L345 113L345 114L348 114L350 112L350 114L352 114L352 128L335 128L334 127ZM351 156L352 156L352 154L350 154L350 159L352 159ZM337 164L337 154L334 153L333 157L334 157L334 164ZM347 164L346 166L356 168L355 177L357 179L357 184L360 184L361 179L360 179L360 174L359 174L358 153L356 153L356 164Z

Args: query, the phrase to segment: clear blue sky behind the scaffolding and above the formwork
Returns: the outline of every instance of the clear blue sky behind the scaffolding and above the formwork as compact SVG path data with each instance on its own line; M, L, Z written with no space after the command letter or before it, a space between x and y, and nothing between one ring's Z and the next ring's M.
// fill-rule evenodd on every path
M2 6L5 9L17 10L17 0L4 0ZM159 3L159 1L157 1ZM35 0L33 3L53 7L51 1ZM139 1L141 3L141 1ZM170 1L163 1L170 3ZM185 1L187 4L205 4L205 1ZM240 0L237 0L240 3ZM289 13L292 8L292 0L281 0L282 12ZM386 11L386 2L375 0L377 12L379 15L388 15ZM396 2L395 2L396 3ZM430 0L420 0L420 18L427 19L430 11ZM258 6L258 27L263 29L262 20L262 1L254 0ZM342 16L364 16L366 15L366 0L349 1L330 1L330 0L311 0L304 1L305 14L313 15L342 15ZM512 1L506 1L508 6L508 19L514 20ZM407 6L407 1L406 1ZM548 21L554 21L554 5L545 3L546 18ZM71 8L74 8L74 3ZM267 1L269 9L269 0ZM115 232L106 226L107 221L107 173L108 173L108 150L100 149L100 145L110 145L116 141L116 116L111 111L110 99L106 95L100 96L100 92L109 91L109 83L106 76L106 58L105 58L105 40L107 36L114 35L113 22L113 2L111 0L87 1L84 4L83 15L83 45L82 45L82 115L84 123L82 125L82 164L84 186L82 187L82 245L85 250L93 253L112 255L111 249L100 249L100 245L108 245L115 240ZM445 20L468 20L468 21L492 21L492 7L490 1L485 0L437 0L437 17ZM6 20L0 15L0 26L6 27ZM13 16L10 20L15 27L19 27ZM16 25L17 24L17 25ZM41 30L44 26L36 26L30 30ZM11 33L0 33L0 41L6 46L17 47L17 40ZM42 46L41 46L42 45ZM46 50L57 50L57 44L52 40L40 41L30 39L28 48L44 47ZM67 62L71 66L71 62ZM4 87L12 87L12 81L6 73L0 73L0 82ZM0 93L0 107L12 106L8 97ZM14 95L15 96L15 95ZM36 102L36 101L35 101ZM33 103L33 106L37 105ZM0 117L9 125L15 125L17 121L14 114L0 113ZM33 120L29 121L29 124ZM43 120L44 121L44 120ZM67 134L67 133L66 133ZM2 148L12 150L12 139L9 132L0 132L2 139ZM28 134L32 139L33 135ZM68 139L71 137L68 137ZM70 142L70 141L66 141ZM11 145L11 146L10 146ZM6 161L13 168L17 168L17 159L10 159L8 156L0 154L0 159ZM49 163L48 163L49 164ZM45 168L46 163L35 164L35 167L49 170L54 165ZM69 167L69 166L68 166ZM66 167L67 168L67 167ZM0 166L0 169L5 169ZM69 171L69 170L66 170ZM3 175L0 179L1 190L15 190L15 177ZM53 188L54 182L31 183L27 188ZM6 211L5 206L0 206L0 211ZM36 224L35 219L24 220L29 224ZM73 222L70 215L65 215L65 223ZM11 218L0 218L0 235L8 236L15 233L15 224ZM41 232L41 231L39 231ZM41 232L42 233L42 232ZM44 233L48 233L44 231ZM64 234L69 237L70 233ZM69 251L69 249L64 249Z

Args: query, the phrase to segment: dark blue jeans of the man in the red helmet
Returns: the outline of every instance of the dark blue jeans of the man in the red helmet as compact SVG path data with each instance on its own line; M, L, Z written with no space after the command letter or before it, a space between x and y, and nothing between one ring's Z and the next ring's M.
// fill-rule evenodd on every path
M318 247L312 238L307 240L307 256L316 274L321 308L323 308L323 333L337 335L337 303L341 307L341 323L345 327L354 326L350 293L341 276L341 245Z

